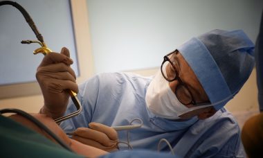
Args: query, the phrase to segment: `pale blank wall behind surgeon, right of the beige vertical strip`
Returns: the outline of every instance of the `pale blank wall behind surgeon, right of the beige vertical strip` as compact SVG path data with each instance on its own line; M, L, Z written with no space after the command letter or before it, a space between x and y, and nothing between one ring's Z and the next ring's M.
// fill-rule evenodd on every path
M95 73L160 67L163 56L212 29L253 42L262 0L87 0Z

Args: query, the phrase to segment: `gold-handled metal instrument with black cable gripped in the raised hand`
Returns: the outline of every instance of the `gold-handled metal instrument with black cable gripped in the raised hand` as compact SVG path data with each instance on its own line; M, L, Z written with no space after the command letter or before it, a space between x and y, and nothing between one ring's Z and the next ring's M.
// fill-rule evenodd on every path
M14 6L15 8L17 8L22 13L24 18L26 19L26 22L28 23L28 25L30 26L30 28L33 30L33 32L35 33L35 35L37 37L37 40L23 40L23 41L21 41L21 44L31 44L31 43L39 44L41 47L39 49L35 49L35 51L33 51L34 54L43 53L44 55L46 55L46 54L52 52L51 49L48 49L48 47L46 46L46 44L44 42L44 38L39 33L39 30L37 30L37 26L35 26L33 19L30 17L28 12L26 12L26 10L22 6L19 5L19 3L16 3L14 1L0 1L0 6L3 6L3 5L11 5L11 6ZM58 119L55 119L54 121L56 123L60 123L61 121L64 121L64 120L69 119L73 116L76 116L76 115L80 114L80 112L82 111L82 105L80 104L80 101L78 100L77 94L71 90L69 90L69 94L71 96L71 99L73 100L75 107L77 108L77 111L75 111L71 114L68 114L66 116L62 116Z

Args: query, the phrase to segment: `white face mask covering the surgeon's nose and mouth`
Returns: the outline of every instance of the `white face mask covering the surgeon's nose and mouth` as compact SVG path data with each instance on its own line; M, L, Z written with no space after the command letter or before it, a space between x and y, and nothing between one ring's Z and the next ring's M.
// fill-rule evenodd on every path
M146 105L149 110L156 116L165 119L180 119L181 114L190 112L194 109L210 107L212 105L203 105L198 107L185 107L177 98L169 82L163 78L161 70L158 71L149 87L145 96Z

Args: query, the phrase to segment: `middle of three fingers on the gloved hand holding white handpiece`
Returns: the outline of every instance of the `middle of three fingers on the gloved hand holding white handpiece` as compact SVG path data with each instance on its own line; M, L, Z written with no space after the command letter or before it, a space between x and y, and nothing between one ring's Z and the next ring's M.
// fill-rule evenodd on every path
M102 144L102 146L112 146L112 143L117 143L116 140L111 140L107 135L103 132L99 132L97 130L92 130L90 128L77 128L73 135L78 135L85 139L91 139L93 141L97 141Z

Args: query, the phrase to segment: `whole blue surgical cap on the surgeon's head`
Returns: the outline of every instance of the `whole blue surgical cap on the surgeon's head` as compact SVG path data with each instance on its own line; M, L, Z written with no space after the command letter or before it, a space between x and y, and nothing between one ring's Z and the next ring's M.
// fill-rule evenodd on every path
M179 46L215 109L224 107L253 70L254 44L243 30L211 30Z

